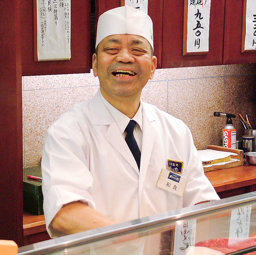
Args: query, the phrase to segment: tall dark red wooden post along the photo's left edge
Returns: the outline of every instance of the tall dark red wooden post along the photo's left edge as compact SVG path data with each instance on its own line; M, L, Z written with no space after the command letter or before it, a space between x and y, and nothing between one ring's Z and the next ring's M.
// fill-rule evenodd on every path
M0 15L0 239L22 245L23 165L21 0L4 0Z

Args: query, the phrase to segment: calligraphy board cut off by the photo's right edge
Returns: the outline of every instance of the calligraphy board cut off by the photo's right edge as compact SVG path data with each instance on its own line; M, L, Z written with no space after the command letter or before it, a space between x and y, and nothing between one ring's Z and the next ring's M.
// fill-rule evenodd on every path
M256 4L255 0L244 0L242 52L256 51Z

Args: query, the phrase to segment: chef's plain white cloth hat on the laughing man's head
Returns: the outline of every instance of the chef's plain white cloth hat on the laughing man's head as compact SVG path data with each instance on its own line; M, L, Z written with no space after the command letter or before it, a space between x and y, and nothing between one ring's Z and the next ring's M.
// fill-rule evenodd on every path
M153 47L153 23L149 15L131 6L109 10L99 17L96 45L107 36L130 34L146 38Z

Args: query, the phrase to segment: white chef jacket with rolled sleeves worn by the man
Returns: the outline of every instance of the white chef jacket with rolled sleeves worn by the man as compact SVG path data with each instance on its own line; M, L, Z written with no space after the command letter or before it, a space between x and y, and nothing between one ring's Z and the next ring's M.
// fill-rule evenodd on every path
M42 157L46 228L63 204L87 203L103 215L127 221L219 199L204 175L189 128L143 103L140 171L123 134L98 92L78 103L47 130ZM183 162L183 197L156 186L167 160Z

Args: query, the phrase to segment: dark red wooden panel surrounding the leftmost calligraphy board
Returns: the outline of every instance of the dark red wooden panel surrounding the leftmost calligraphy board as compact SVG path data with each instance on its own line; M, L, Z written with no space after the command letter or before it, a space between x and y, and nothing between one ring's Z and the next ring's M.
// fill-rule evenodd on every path
M33 0L21 1L22 75L90 72L91 1L71 1L71 59L34 62Z

